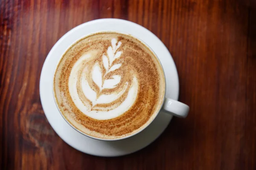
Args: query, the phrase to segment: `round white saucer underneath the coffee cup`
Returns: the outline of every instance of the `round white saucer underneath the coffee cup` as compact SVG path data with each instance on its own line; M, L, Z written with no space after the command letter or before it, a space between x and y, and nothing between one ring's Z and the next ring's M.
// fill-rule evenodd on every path
M40 77L40 97L48 122L67 144L81 152L95 156L122 156L140 150L160 136L166 129L172 116L160 112L154 121L135 136L119 141L99 141L91 139L74 130L62 118L55 105L52 94L52 77L58 60L64 51L76 40L97 31L120 31L132 34L143 40L159 57L166 75L166 97L177 100L179 80L175 63L166 46L146 28L126 20L100 19L93 20L73 28L52 47Z

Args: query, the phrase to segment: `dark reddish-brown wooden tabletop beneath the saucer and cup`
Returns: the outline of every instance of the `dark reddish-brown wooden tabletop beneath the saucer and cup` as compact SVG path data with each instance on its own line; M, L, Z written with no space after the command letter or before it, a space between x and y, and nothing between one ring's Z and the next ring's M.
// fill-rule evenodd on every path
M256 170L254 0L0 0L1 170ZM39 96L57 40L98 18L148 28L171 52L191 108L154 143L103 158L52 130Z

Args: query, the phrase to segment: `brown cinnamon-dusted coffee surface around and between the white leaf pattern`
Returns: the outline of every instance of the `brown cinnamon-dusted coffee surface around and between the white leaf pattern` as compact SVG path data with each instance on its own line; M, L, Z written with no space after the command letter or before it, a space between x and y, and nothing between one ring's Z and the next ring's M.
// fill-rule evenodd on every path
M122 63L122 67L108 74L106 78L120 75L121 81L115 88L107 88L102 91L99 90L99 87L90 77L88 77L88 84L94 91L98 91L100 95L111 94L122 91L122 87L126 84L128 85L127 89L131 88L133 77L135 76L138 81L137 96L130 109L120 116L108 120L93 119L82 113L70 96L68 87L70 72L76 61L83 54L90 51L94 51L94 55L85 64L88 71L92 70L92 66L96 62L100 63L99 67L104 70L102 54L108 50L112 38L122 42L119 47L119 50L122 51L122 56L113 62L113 64ZM89 107L91 103L82 94L81 88L77 85L79 98L84 105ZM151 122L163 102L165 79L158 59L140 40L116 32L102 32L79 40L65 52L55 72L54 92L58 108L70 124L90 136L117 139L136 133L146 126L148 122ZM95 105L95 110L108 112L111 108L118 107L126 99L127 95L128 90L111 103Z

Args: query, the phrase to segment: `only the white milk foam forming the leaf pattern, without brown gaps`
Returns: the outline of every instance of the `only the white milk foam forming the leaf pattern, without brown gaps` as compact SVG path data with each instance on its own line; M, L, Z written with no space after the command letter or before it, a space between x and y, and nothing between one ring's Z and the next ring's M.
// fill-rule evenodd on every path
M101 94L103 89L108 88L115 88L119 82L121 81L122 77L120 75L112 75L111 79L102 79L105 78L105 75L110 73L111 71L115 71L116 69L120 68L122 64L115 64L113 66L112 63L115 59L119 58L122 54L122 51L116 50L121 45L121 42L119 42L116 45L116 39L112 39L112 47L108 48L107 56L103 54L102 56L102 62L105 68L105 74L102 73L102 69L99 66L99 63L96 62L95 65L93 65L92 72L89 71L87 61L90 61L90 59L93 57L93 52L88 52L87 54L84 54L81 56L77 62L73 65L73 68L70 73L68 87L70 96L76 105L76 107L85 115L90 116L93 119L98 120L106 120L106 119L113 119L115 117L120 116L121 114L128 111L131 106L134 104L136 98L137 98L137 92L138 92L138 81L136 76L134 75L132 79L132 83L130 88L128 89L128 82L125 83L125 86L122 87L121 91L114 91L111 94ZM79 75L81 75L79 77ZM93 90L92 87L90 87L87 77L92 78L93 82L98 86L99 88L99 94L97 94L96 91ZM78 85L80 83L80 85ZM81 87L84 96L89 100L87 104L84 104L84 102L78 94L78 87ZM99 111L94 110L94 106L97 104L109 104L111 102L114 102L119 99L126 91L128 91L128 95L126 96L125 100L117 107L110 109L109 111ZM91 103L91 105L90 105Z

